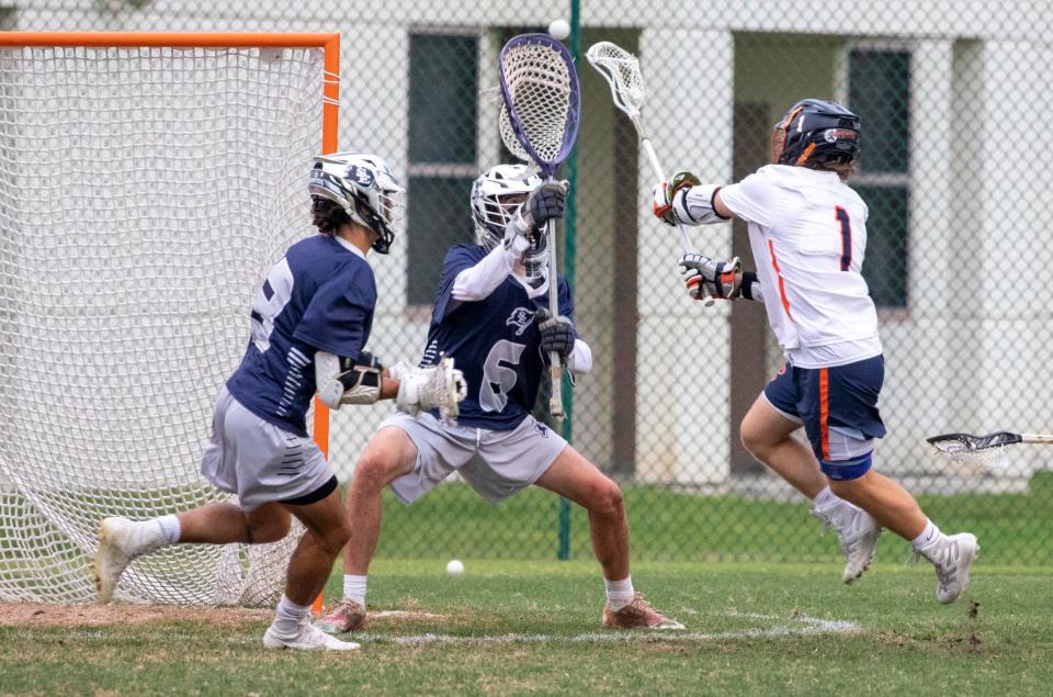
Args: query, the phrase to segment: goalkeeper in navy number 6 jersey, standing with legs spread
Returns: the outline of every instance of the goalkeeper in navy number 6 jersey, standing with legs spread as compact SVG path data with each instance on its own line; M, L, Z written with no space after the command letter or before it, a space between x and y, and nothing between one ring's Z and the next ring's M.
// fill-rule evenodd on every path
M571 373L592 367L589 346L574 329L574 301L557 283L552 317L546 221L563 217L565 183L542 183L520 165L499 165L476 179L472 212L478 244L446 254L422 364L452 356L464 371L467 397L457 424L432 415L396 413L360 458L348 493L351 539L344 550L343 599L318 626L351 631L366 621L365 591L381 525L381 492L390 485L410 504L456 471L484 498L499 503L536 484L584 506L603 569L609 627L681 628L633 589L629 525L618 485L566 440L531 416L555 350Z

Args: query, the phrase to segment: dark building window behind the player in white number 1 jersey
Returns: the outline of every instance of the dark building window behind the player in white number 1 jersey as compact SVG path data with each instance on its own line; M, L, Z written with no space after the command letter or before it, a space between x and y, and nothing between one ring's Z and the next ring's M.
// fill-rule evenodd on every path
M879 307L906 307L910 52L850 50L848 104L863 130L859 173L852 180L870 209L863 278Z

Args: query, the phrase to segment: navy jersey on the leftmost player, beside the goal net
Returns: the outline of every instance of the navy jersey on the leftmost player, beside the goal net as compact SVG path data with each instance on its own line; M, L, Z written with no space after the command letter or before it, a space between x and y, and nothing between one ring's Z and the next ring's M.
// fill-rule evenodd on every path
M315 235L288 248L252 302L252 334L230 394L262 419L306 436L315 351L358 357L370 338L376 281L365 259Z

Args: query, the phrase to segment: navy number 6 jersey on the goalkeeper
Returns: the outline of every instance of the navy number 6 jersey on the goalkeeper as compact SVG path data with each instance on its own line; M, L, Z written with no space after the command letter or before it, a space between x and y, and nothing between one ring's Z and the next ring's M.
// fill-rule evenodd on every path
M509 276L480 301L452 296L457 273L487 255L478 245L456 245L446 252L442 281L431 313L422 366L452 356L464 373L468 396L461 403L457 423L491 430L511 430L530 414L548 367L542 356L534 311L548 307L548 293L530 297ZM559 279L559 314L574 319L574 299Z

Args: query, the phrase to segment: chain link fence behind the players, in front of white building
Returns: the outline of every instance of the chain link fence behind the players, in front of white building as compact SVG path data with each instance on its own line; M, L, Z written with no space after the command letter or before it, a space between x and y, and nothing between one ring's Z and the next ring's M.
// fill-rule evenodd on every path
M382 155L408 188L392 254L371 257L380 292L371 348L388 360L420 357L443 254L473 239L471 183L508 158L497 128L501 45L570 20L584 106L575 166L563 172L574 179L575 215L561 231L561 268L574 271L578 329L596 366L574 387L568 428L575 447L623 485L634 555L646 560L833 561L838 551L816 535L806 502L739 443L739 420L782 363L763 307L703 308L683 293L679 241L650 215L653 178L634 128L584 52L607 40L641 57L660 160L703 181L738 180L766 164L772 124L799 99L845 103L863 124L850 183L870 206L863 273L886 360L888 436L876 469L919 494L944 529L975 531L985 561L1051 563L1048 451L1016 446L994 465L951 462L925 438L1053 429L1053 251L1044 244L1053 170L1035 156L1053 149L1044 123L1053 7L571 5L22 0L0 20L20 31L341 32L341 149ZM692 235L710 256L738 255L752 268L738 223ZM331 458L342 477L353 476L388 409L333 416ZM882 544L884 559L895 559L887 550L898 542ZM491 508L451 482L409 508L387 498L380 553L590 552L584 514L550 494L529 491Z

